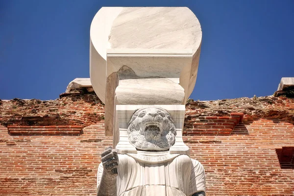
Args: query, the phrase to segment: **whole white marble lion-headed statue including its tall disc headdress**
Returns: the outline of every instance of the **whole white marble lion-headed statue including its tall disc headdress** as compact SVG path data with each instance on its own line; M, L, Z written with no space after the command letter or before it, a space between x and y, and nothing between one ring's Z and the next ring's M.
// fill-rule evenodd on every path
M102 7L90 28L90 80L105 104L98 196L205 196L182 138L202 31L187 7Z

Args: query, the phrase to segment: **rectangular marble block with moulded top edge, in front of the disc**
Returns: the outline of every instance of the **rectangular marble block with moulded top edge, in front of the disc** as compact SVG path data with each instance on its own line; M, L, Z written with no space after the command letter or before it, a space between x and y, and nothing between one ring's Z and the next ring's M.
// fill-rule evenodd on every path
M192 49L108 49L107 76L127 66L140 78L180 78L192 58Z

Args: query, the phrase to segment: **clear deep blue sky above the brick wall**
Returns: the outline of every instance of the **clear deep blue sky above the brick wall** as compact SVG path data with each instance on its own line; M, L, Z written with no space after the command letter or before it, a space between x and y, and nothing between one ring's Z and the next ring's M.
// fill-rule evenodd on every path
M191 98L268 96L294 77L293 0L0 0L0 99L56 99L89 77L90 25L102 6L196 14L203 36Z

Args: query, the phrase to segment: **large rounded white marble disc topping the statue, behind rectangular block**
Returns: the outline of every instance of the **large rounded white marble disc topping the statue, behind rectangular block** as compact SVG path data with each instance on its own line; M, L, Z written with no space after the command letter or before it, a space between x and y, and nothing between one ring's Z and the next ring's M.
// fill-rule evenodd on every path
M196 81L201 38L199 21L187 7L102 7L90 28L90 75L98 97L105 101L107 49L191 50L193 59L185 76L189 97Z

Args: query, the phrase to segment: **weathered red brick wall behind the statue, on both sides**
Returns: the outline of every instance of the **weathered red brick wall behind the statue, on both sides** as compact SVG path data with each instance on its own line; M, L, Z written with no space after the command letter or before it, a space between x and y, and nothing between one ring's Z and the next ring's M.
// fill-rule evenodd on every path
M86 94L75 96L53 100L48 106L46 102L28 104L30 100L23 105L15 100L2 101L0 122L5 126L24 125L22 122L27 121L22 121L22 117L39 115L42 125L49 122L52 129L52 122L42 117L55 113L63 118L56 120L59 123L55 127L65 120L68 127L84 128L81 134L42 134L38 127L38 134L9 135L7 128L1 126L1 196L95 196L100 153L112 145L112 138L104 136L103 105L98 99L87 99ZM32 112L31 107L37 112ZM237 120L231 113L245 116ZM293 196L294 170L281 169L276 154L277 148L294 147L293 123L293 98L187 104L184 141L191 147L191 157L205 168L207 195ZM206 129L229 129L230 133Z

